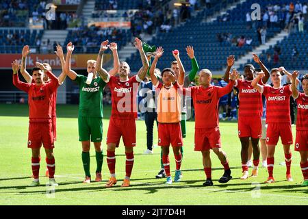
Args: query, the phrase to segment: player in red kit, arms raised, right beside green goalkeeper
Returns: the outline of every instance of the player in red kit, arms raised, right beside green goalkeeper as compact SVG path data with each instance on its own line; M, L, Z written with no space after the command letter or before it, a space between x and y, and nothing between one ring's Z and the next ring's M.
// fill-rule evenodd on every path
M107 44L101 43L101 49L97 56L96 70L99 76L110 86L112 92L112 115L110 116L109 127L107 131L107 165L110 170L110 180L105 185L112 187L116 184L116 155L115 150L123 138L126 155L126 175L122 187L128 187L130 184L131 171L133 169L133 147L136 146L136 96L139 83L146 76L149 69L149 61L142 48L142 42L135 38L135 46L140 53L142 68L129 79L131 72L127 62L120 62L119 78L114 77L103 69L103 53L107 50Z

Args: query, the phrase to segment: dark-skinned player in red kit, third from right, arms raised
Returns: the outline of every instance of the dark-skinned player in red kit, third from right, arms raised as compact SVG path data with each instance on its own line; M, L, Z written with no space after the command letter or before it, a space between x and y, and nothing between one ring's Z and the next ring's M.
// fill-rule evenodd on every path
M253 54L253 60L259 64L261 70L264 71L265 77L263 77L259 83L265 84L270 77L270 73L256 54ZM228 69L230 69L232 65L233 63L229 64L228 60ZM246 66L244 66L244 75L246 79L238 79L235 81L235 87L239 90L238 99L240 100L240 107L238 110L238 136L242 145L242 177L240 179L248 179L247 162L250 138L253 146L253 172L251 176L257 177L258 175L260 157L259 138L261 138L261 115L263 112L262 95L251 86L251 82L257 75L255 67L252 64L246 64ZM228 77L224 77L224 81L227 82Z

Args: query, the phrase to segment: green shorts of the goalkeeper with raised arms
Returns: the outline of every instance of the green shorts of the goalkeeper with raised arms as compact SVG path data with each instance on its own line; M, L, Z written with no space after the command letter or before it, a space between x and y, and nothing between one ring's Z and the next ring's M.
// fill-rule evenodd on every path
M103 122L99 117L78 116L79 141L101 142L103 138Z

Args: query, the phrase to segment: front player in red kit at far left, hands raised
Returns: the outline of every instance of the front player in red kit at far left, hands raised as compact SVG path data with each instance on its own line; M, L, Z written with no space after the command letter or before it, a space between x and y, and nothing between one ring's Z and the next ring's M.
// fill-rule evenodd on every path
M18 89L29 94L29 136L28 148L32 150L31 167L34 181L29 186L38 186L40 170L40 147L44 146L46 152L47 168L49 169L49 183L55 183L55 157L53 157L54 138L52 125L52 102L53 92L59 86L59 80L51 73L44 64L36 62L38 67L33 68L32 77L35 83L19 81L18 70L20 64L17 60L12 63L13 84ZM43 80L44 74L51 79L49 83Z

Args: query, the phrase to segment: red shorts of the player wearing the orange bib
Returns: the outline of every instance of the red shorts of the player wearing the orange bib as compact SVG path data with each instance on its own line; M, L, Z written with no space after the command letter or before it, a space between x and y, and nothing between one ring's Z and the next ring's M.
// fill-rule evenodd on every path
M159 146L183 146L181 123L158 123Z

